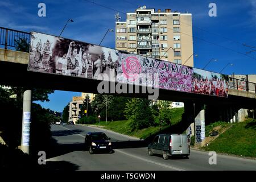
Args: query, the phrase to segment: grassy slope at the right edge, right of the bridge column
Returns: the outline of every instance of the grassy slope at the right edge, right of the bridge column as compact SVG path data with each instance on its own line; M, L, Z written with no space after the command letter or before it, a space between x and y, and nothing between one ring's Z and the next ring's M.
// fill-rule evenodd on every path
M204 150L226 154L256 157L256 120L229 124L232 127L221 134Z

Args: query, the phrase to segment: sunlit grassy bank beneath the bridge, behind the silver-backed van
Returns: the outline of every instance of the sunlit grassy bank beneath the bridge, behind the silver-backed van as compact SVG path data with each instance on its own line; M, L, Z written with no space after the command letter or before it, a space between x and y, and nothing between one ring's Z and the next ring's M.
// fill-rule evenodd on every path
M174 114L172 118L172 124L175 125L176 123L179 123L181 121L181 115L184 113L184 108L174 108ZM95 123L94 125L98 125L98 123ZM166 129L167 127L170 126L151 126L146 129L142 130L136 130L136 131L130 131L129 129L129 121L113 121L113 122L108 122L106 123L105 121L100 122L101 126L105 126L105 129L112 130L121 134L126 134L130 135L133 137L138 137L138 138L146 138L149 135L152 135L154 133L157 133L160 129Z

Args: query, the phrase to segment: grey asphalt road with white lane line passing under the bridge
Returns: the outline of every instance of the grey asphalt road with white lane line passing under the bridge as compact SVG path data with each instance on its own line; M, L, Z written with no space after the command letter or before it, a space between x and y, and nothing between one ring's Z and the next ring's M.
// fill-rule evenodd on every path
M147 143L112 131L81 125L52 125L55 141L46 154L47 168L93 171L166 171L166 170L256 170L256 160L217 155L210 165L207 152L191 150L189 159L148 156ZM113 154L93 154L84 150L84 136L89 131L103 131L111 138Z

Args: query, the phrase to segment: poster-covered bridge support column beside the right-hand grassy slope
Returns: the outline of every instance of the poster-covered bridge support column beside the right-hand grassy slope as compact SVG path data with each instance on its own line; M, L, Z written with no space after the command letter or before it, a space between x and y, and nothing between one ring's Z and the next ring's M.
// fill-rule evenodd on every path
M204 104L195 103L195 147L204 145L205 139L205 110Z

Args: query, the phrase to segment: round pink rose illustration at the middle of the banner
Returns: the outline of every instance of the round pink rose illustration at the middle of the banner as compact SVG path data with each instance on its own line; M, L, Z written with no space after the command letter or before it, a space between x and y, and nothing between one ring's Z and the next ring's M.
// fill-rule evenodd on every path
M122 71L123 71L123 75L129 80L130 79L132 81L137 80L137 78L139 77L139 74L142 71L142 67L141 67L141 64L139 63L138 58L135 56L127 57L126 60L123 61L122 63Z

